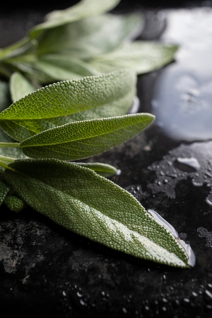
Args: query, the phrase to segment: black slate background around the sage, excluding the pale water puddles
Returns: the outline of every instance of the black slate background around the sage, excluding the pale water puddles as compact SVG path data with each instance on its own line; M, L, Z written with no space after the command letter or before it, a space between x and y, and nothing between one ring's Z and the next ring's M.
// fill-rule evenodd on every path
M72 3L61 2L56 9ZM202 6L210 8L211 2L177 2L171 7L190 10ZM29 27L42 21L44 13L54 9L49 8L20 3L10 12L6 5L0 13L0 46L22 38ZM141 38L159 38L166 19L157 20L157 13L170 4L123 1L116 10L134 8L147 17ZM140 111L152 112L151 100L161 72L138 78ZM182 174L173 165L176 156L202 160L200 171L185 169ZM1 316L211 317L212 207L207 201L211 141L173 140L155 123L133 140L90 160L119 168L122 173L112 180L175 227L191 244L196 265L185 270L135 259L73 234L32 209L15 214L1 206ZM163 172L168 161L172 163L169 172L176 176L174 182L166 176L166 186Z

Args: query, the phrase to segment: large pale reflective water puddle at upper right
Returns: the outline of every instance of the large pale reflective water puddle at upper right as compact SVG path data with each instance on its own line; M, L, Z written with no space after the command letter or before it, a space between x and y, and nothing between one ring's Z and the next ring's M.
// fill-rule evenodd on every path
M167 12L161 40L179 45L176 60L157 78L152 99L155 123L180 141L212 138L212 9Z

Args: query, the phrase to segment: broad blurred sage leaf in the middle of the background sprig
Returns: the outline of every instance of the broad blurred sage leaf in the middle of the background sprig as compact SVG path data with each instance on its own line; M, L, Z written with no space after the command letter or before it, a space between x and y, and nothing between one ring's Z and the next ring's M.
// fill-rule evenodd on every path
M38 56L66 54L86 60L132 41L144 24L141 13L104 14L46 30L38 41Z

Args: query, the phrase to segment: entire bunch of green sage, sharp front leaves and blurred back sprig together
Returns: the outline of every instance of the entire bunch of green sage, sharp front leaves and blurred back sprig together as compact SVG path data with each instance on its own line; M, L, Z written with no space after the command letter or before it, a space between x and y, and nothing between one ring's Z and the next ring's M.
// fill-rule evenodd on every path
M142 138L155 116L130 113L137 75L165 66L177 50L136 40L143 16L108 13L118 3L82 0L53 11L0 50L0 76L8 78L0 80L0 205L30 206L115 250L188 268L191 248L109 179L118 169L82 162Z

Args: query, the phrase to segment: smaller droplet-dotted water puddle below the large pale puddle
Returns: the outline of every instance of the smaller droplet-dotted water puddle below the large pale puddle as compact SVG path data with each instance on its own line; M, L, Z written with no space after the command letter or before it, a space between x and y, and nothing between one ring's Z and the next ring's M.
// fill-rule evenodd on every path
M212 141L181 144L172 149L163 160L148 167L155 171L156 179L148 184L153 194L164 192L169 198L175 198L175 185L179 180L192 179L194 186L206 184L209 195L205 202L212 206Z

